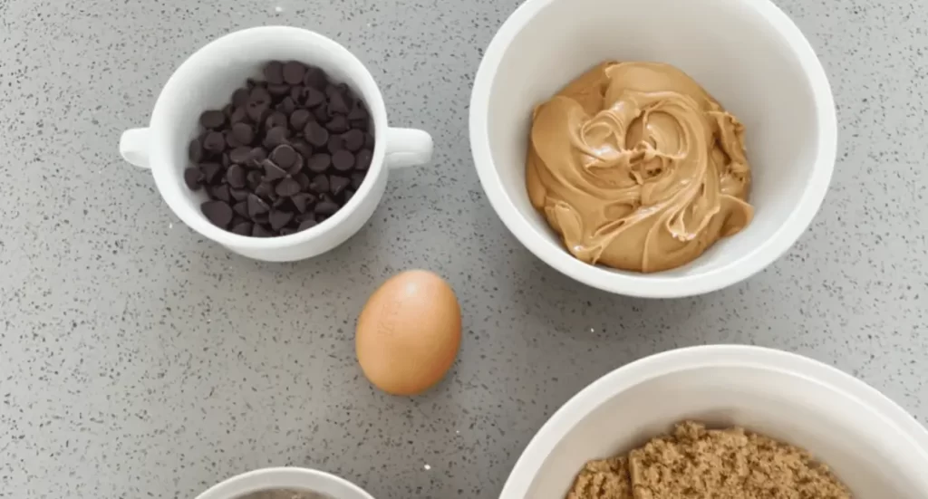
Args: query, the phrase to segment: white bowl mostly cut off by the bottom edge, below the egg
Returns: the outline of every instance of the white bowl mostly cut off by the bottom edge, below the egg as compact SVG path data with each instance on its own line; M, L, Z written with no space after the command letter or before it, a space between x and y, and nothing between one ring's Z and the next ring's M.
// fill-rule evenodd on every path
M332 499L374 499L348 480L303 467L267 467L249 471L214 485L197 499L238 499L249 493L280 489L321 493Z

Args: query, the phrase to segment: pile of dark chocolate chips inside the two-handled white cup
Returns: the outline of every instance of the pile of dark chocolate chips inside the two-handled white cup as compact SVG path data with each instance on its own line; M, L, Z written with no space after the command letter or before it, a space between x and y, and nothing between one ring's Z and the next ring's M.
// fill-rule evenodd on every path
M184 180L200 209L242 236L287 236L326 220L364 182L374 150L364 102L301 62L272 61L264 81L200 116Z

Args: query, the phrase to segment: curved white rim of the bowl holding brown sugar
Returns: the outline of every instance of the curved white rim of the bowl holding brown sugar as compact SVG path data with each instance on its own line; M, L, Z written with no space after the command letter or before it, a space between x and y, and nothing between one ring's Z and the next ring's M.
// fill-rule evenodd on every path
M915 443L928 463L928 429L905 409L860 379L798 353L751 345L700 345L660 352L623 365L580 390L561 405L522 451L499 494L522 499L538 470L564 436L584 417L619 393L656 377L705 367L753 367L805 377L869 408L883 419L883 429Z

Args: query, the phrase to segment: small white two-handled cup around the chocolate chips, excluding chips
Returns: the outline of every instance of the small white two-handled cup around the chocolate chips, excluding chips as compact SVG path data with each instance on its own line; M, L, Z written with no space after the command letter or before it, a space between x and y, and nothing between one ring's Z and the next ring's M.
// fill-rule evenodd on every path
M245 237L211 224L200 211L206 195L184 183L187 145L198 134L200 113L221 109L246 79L261 78L261 69L271 60L312 64L333 81L352 87L367 104L376 145L364 183L329 219L289 236ZM290 262L333 249L360 230L380 203L391 169L432 159L432 136L388 125L380 88L348 49L316 32L268 26L226 34L187 58L161 90L148 127L122 134L120 153L130 163L151 169L161 197L193 230L256 260Z

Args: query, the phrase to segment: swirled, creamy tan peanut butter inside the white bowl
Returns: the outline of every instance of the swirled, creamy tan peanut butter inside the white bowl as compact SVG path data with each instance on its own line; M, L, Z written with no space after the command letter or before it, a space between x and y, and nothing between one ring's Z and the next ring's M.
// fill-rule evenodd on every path
M666 64L574 80L535 108L526 163L532 204L583 262L672 269L754 216L741 122Z

